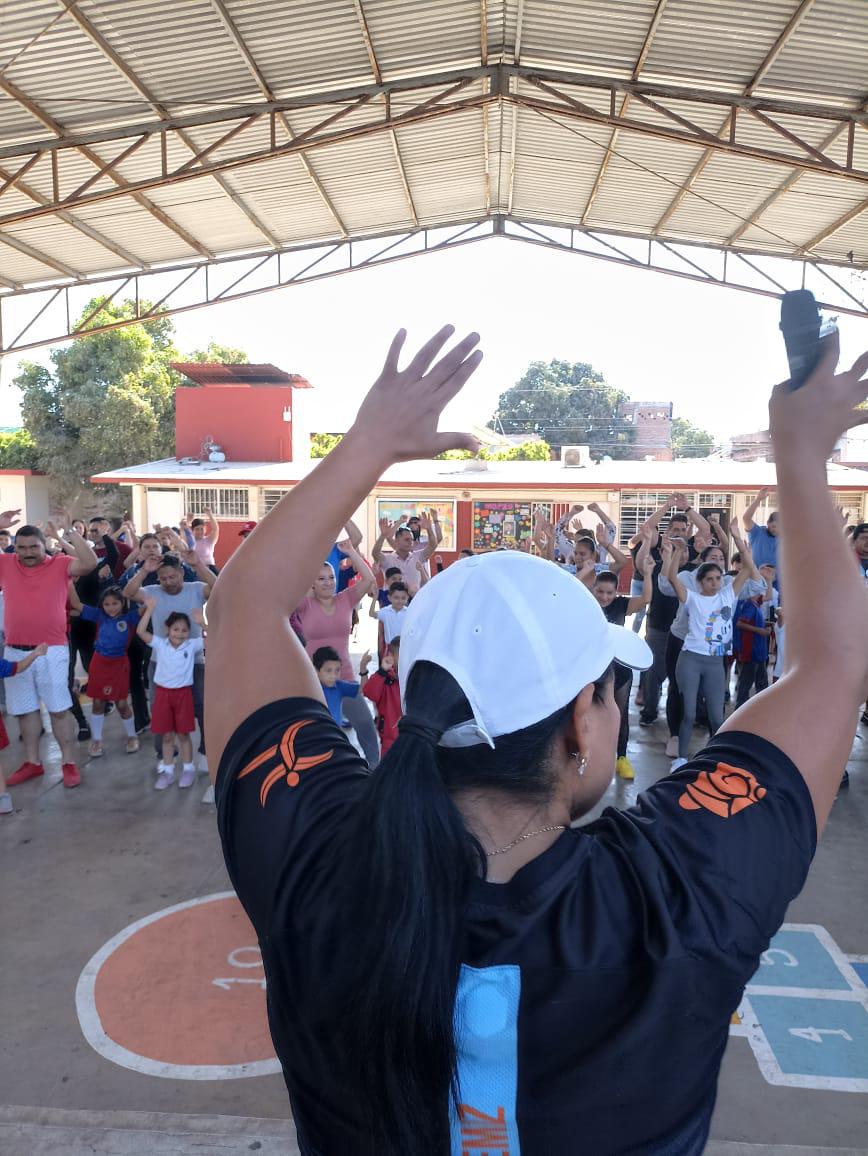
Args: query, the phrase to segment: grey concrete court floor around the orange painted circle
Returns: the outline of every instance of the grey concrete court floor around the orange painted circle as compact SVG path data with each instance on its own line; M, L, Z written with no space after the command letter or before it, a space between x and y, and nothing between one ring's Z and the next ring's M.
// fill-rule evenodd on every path
M606 803L628 805L666 772L663 731L640 729L633 712L637 779L614 784ZM866 740L860 727L850 791L787 919L819 924L868 958ZM200 801L207 780L156 794L150 750L124 755L117 718L106 746L113 753L87 763L82 744L84 783L65 791L57 747L44 739L45 778L15 788L16 813L0 818L0 1156L292 1156L280 1075L157 1077L103 1058L82 1035L76 983L102 944L155 911L229 889L214 809ZM7 766L16 748L13 739ZM868 1095L772 1087L748 1040L732 1038L707 1153L868 1156Z

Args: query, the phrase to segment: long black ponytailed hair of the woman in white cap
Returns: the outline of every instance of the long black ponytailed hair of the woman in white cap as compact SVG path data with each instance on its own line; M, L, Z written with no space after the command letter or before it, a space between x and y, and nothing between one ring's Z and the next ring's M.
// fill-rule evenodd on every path
M450 1151L462 907L470 881L485 874L485 853L450 791L544 802L548 754L571 706L498 739L496 750L438 748L403 731L371 775L341 853L347 929L337 970L349 979L339 1006L348 1090L365 1127L359 1153ZM418 662L407 717L439 734L472 712L451 675Z

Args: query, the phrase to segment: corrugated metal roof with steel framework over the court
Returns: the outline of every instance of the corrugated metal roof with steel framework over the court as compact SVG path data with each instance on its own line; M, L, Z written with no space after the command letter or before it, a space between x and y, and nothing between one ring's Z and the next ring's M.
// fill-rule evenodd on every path
M513 72L483 74L498 65ZM341 92L374 83L416 87L346 111ZM779 128L742 111L750 151L711 155L728 109L710 94L784 102ZM868 171L868 124L840 119L867 96L868 0L6 0L0 236L32 252L0 244L0 292L59 283L58 266L129 268L118 246L154 267L489 215L776 255L816 238L807 255L863 267L868 180L833 165ZM304 106L246 124L290 98ZM453 111L435 118L438 102ZM387 109L415 119L390 131ZM593 120L613 112L632 127ZM135 136L105 138L129 126L151 135L123 157ZM269 155L304 134L303 155ZM69 147L53 163L58 138ZM832 164L786 190L794 169L761 155L816 162L811 148ZM175 171L205 149L232 166ZM128 183L144 184L116 197Z

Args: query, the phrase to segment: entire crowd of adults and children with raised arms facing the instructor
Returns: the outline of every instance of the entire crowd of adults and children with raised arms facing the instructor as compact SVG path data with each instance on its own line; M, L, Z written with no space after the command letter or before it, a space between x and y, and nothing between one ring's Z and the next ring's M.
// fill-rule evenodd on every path
M573 505L557 524L537 507L532 539L519 547L586 585L610 623L624 625L632 617L637 632L644 625L653 662L636 684L635 704L639 725L653 727L666 688L666 755L673 771L690 755L697 721L709 736L715 734L727 704L741 706L782 673L778 516L772 511L764 525L754 520L767 496L762 490L748 506L747 538L736 521L725 525L715 514L706 519L683 494L674 492L625 551L615 544L617 526L596 503L586 513L583 505ZM591 516L591 524L583 523L583 513L585 521ZM155 788L176 781L176 755L181 759L178 786L192 786L196 766L190 735L196 728L199 770L208 765L201 639L205 606L218 573L214 548L220 525L214 514L206 511L203 518L141 535L128 518L94 517L87 524L75 520L68 529L53 523L44 529L20 526L13 536L16 514L0 517L0 598L6 601L6 659L17 664L6 675L7 712L18 718L24 761L6 787L43 773L40 704L61 748L65 786L81 781L76 726L77 740L89 742L89 757L101 758L105 720L116 710L127 754L139 750L139 735L153 731ZM245 523L239 536L246 538L254 526ZM843 532L868 584L868 524L847 526L843 519ZM347 524L344 534L291 622L319 673L335 721L355 734L369 766L376 766L394 741L401 717L396 669L402 622L414 596L444 569L436 554L443 529L433 509L408 512L400 521L384 519L372 563L359 553L363 535L355 523ZM463 549L460 556L473 554ZM620 593L626 568L629 593ZM357 675L350 657L365 598L368 614L378 623L377 668L370 676L370 652L362 657ZM43 643L47 652L37 653L35 647ZM79 701L82 673L89 716ZM628 757L633 686L632 672L616 666L616 772L624 780L635 778ZM868 704L862 721L868 722ZM846 772L843 781L848 781ZM203 801L213 798L209 787ZM12 810L8 790L0 791L0 814Z

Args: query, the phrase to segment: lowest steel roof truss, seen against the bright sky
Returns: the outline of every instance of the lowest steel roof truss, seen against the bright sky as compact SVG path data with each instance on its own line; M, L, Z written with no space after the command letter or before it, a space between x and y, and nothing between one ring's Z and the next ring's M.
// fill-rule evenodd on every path
M747 260L743 253L737 252L736 255L742 258L741 264L744 264L752 273L758 274L769 282L769 288L765 288L757 287L752 280L740 280L736 272L740 266L739 261L725 262L722 273L707 268L710 251L717 252L717 250L713 250L713 246L654 242L644 246L644 255L637 255L636 253L631 253L626 245L631 240L647 240L647 238L602 232L581 227L566 229L562 225L511 220L502 216L494 216L470 223L455 222L451 228L455 231L447 237L442 236L442 228L436 230L435 236L432 236L432 230L414 229L355 238L347 242L336 240L312 246L288 246L280 251L248 253L244 257L223 257L213 260L180 262L150 273L131 273L116 277L92 276L83 279L80 283L73 282L39 289L31 288L23 294L0 294L0 333L8 332L12 328L6 317L9 305L16 303L18 311L21 311L22 299L32 301L29 314L23 318L23 328L6 346L0 344L0 356L21 354L29 349L68 341L72 338L123 328L136 321L147 321L157 311L161 314L185 313L221 302L239 301L265 292L273 292L276 289L303 284L307 281L340 276L344 273L408 260L411 257L442 252L447 249L455 249L477 240L500 236L558 252L569 252L577 257L608 261L631 269L665 273L669 276L696 281L700 284L739 289L743 292L756 294L762 297L779 297L786 288L800 288L803 271L811 268L822 274L824 279L836 287L843 297L847 298L847 302L844 303L840 299L831 298L822 301L821 305L824 309L836 313L847 313L853 317L868 319L868 303L856 297L852 291L852 287L847 288L845 284L841 284L836 277L836 273L840 271L826 262L791 261L789 276L785 281L779 269L776 268L776 276L772 276L754 261ZM377 244L377 247L368 255L359 257L358 247L362 244ZM669 257L677 259L682 267L673 268L672 265L663 264L655 255L655 246L668 253ZM310 260L305 260L307 255ZM301 260L304 264L290 271L287 268L290 259L295 259L296 262ZM335 267L335 261L340 261L337 267ZM703 264L704 261L706 264ZM237 275L231 276L228 284L222 289L216 289L216 279L213 273L222 268L228 268L230 272L237 269ZM212 276L209 276L209 272ZM253 286L251 283L254 276L258 276L261 281L264 274L267 275L266 284ZM159 284L159 279L162 279L162 284ZM165 284L166 280L170 281L168 287ZM157 286L156 291L154 291L155 286ZM151 288L149 289L149 287ZM190 302L186 297L180 298L180 290L185 287L196 287L198 296L194 302ZM121 291L125 294L128 291L131 298L135 302L156 298L156 304L147 311L138 310L135 317L109 325L90 326L89 321L96 316L94 313L89 318L86 318L77 328L69 328L68 325L58 326L55 323L49 324L49 310L59 298L65 298L64 316L74 316L76 307L71 303L69 294L75 289L86 291L88 297L92 297L99 289L103 289L107 297L117 297ZM38 335L31 333L31 329L35 328L37 321L43 317L46 320L38 331ZM18 318L18 321L21 324L22 318ZM25 341L24 338L28 335L29 340Z

